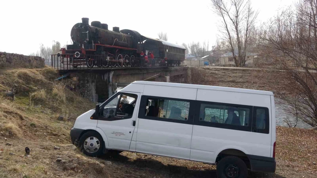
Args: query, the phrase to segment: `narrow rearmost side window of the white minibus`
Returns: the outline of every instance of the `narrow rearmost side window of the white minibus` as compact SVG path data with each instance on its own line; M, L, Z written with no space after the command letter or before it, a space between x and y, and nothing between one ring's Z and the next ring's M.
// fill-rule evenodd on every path
M269 133L269 114L268 108L254 107L252 132Z

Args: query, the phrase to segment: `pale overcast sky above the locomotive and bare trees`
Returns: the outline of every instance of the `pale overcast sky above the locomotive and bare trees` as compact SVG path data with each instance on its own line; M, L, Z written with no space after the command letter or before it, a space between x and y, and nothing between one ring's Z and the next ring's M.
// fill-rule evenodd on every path
M258 22L267 21L293 0L251 0L259 10ZM219 17L210 10L210 0L94 0L15 1L3 0L0 10L0 51L28 55L40 43L70 44L70 30L82 17L107 23L109 29L132 29L158 38L163 31L172 43L215 42Z

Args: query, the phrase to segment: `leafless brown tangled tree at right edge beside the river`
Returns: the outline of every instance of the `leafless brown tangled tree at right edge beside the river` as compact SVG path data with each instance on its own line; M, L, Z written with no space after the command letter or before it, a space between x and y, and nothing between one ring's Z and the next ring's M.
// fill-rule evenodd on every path
M259 44L284 76L280 83L290 95L280 96L288 111L312 127L317 126L316 16L316 0L301 0L266 24Z

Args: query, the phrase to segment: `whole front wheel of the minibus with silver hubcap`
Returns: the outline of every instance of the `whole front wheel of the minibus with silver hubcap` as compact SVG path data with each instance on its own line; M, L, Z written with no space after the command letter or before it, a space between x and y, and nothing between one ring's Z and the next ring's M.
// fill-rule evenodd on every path
M79 139L79 146L85 155L100 156L102 155L104 144L99 133L95 131L88 131Z

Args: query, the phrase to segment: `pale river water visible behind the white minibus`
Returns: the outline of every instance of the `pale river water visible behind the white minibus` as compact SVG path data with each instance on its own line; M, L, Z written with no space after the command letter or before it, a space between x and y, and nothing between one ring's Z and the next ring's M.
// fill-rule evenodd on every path
M124 88L125 86L117 86L117 91L120 91L122 88ZM279 101L279 99L275 99L275 102ZM284 126L284 127L288 127L288 125L286 124L286 122L284 122L284 120L286 118L289 118L292 120L294 120L294 117L292 117L290 114L286 113L283 109L282 109L282 105L281 104L275 104L275 118L276 118L276 125L280 125L280 126ZM302 123L300 121L297 122L297 126L298 128L306 128L309 129L311 128L310 125Z

